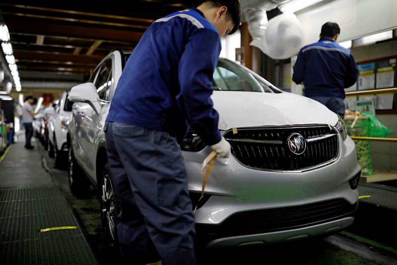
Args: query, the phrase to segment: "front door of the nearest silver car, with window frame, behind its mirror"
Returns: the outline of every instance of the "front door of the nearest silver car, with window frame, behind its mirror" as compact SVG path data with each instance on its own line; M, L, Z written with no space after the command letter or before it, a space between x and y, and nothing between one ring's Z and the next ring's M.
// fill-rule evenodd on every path
M84 104L81 108L81 123L83 133L81 134L81 147L84 151L84 160L86 171L91 177L95 177L95 156L96 156L96 141L103 131L101 120L103 119L104 109L106 105L110 104L107 100L108 87L110 86L109 78L112 76L112 61L114 56L109 56L100 66L98 76L94 82L95 88L100 98L101 108L96 113L94 109Z

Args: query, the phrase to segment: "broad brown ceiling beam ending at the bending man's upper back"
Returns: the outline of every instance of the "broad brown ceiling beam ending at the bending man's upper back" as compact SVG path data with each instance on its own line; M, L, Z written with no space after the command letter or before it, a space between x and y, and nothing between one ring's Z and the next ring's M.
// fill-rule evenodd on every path
M43 22L25 22L23 20L8 20L7 26L9 32L12 33L28 33L36 35L54 35L75 38L90 38L95 40L119 40L138 42L143 35L143 32L131 30L105 29L93 28L83 26L71 26L61 24L51 24Z

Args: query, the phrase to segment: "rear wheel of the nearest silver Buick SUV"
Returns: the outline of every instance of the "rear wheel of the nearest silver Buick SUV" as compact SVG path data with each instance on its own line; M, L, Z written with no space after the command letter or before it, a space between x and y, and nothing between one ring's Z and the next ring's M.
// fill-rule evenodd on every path
M90 188L91 183L87 177L84 176L80 167L77 165L76 159L74 158L73 150L69 147L68 152L68 178L69 188L74 195L83 195Z

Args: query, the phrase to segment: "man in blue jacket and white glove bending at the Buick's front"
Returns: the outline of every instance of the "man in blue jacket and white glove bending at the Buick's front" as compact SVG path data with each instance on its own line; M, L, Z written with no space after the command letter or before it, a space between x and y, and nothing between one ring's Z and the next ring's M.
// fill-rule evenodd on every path
M190 126L217 157L229 157L210 95L220 37L240 21L238 0L203 1L156 20L126 63L104 128L122 204L117 233L125 264L196 263L195 216L178 143Z

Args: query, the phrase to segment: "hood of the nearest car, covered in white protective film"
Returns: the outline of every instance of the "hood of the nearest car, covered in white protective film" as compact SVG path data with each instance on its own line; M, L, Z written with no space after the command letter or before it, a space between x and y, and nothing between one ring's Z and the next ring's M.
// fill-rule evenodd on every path
M330 124L338 116L325 105L288 92L213 91L221 130L254 126Z

